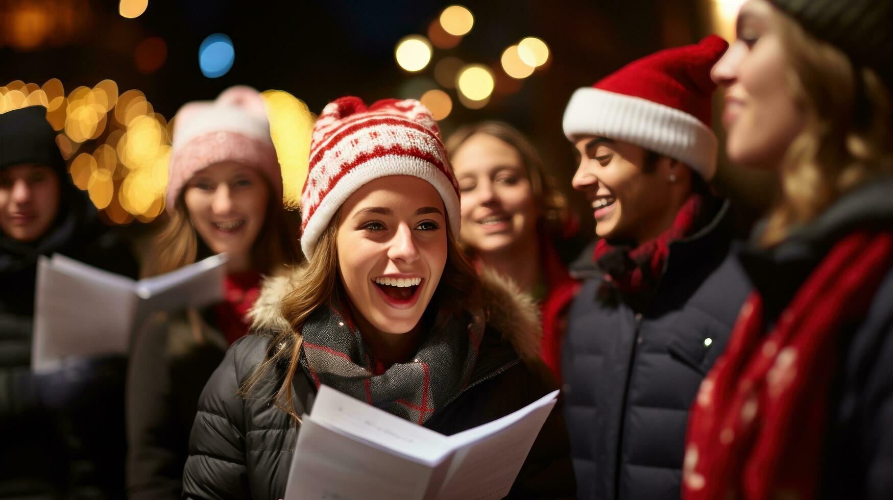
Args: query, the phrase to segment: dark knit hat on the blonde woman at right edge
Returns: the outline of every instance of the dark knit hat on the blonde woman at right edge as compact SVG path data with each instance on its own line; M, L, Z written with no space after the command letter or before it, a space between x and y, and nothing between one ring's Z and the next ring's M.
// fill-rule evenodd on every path
M893 76L893 0L770 0L854 63Z

